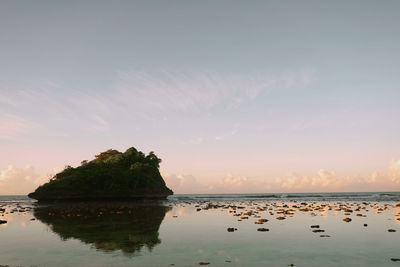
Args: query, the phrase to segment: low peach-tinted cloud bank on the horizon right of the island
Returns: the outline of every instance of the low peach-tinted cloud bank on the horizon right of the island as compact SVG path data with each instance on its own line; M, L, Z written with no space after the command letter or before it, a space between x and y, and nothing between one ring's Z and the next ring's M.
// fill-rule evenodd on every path
M175 193L295 193L341 191L400 190L400 159L391 160L386 172L367 176L341 176L335 171L320 169L314 175L290 172L273 179L226 175L211 183L202 183L193 175L163 174Z

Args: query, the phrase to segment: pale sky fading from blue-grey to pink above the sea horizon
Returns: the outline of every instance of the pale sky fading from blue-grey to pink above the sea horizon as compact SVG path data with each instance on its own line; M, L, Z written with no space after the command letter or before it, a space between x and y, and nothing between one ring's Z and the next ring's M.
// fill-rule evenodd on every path
M0 1L0 194L132 146L176 193L399 191L399 13Z

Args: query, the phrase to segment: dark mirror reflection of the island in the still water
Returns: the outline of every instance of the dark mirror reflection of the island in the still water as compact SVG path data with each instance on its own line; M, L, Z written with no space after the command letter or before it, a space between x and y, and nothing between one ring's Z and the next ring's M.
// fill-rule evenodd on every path
M161 243L158 229L169 210L156 203L63 203L38 206L34 215L63 240L76 238L102 251L133 255Z

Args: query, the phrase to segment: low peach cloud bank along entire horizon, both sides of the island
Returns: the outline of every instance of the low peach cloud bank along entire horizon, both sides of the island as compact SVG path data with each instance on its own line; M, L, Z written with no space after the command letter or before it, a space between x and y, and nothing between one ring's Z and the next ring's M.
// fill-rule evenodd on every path
M272 179L228 174L204 183L193 175L162 175L167 186L177 194L394 191L400 190L400 159L389 161L387 171L367 176L341 176L335 171L321 169L313 175L290 172ZM47 182L48 177L40 175L30 165L25 168L9 165L0 170L0 195L28 194Z

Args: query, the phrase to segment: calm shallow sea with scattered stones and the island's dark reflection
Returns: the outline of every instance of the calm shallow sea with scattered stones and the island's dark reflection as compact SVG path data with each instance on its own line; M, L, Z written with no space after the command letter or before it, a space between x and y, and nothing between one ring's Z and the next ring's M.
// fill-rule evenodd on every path
M400 266L400 193L0 196L0 266L292 264Z

